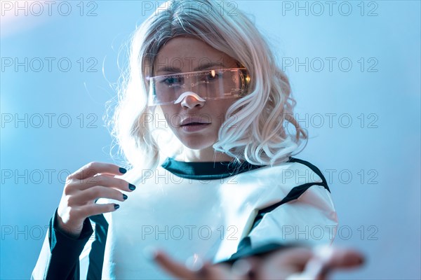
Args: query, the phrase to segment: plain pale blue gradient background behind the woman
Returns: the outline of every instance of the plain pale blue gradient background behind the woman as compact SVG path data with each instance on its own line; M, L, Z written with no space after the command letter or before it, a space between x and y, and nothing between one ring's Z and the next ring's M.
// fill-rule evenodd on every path
M96 8L85 1L81 16L76 6L79 1L68 3L72 13L67 17L58 14L55 5L51 16L46 11L25 16L21 11L12 23L13 11L2 10L2 59L57 59L51 72L46 64L39 72L25 72L23 66L15 71L2 60L0 279L29 278L46 235L44 227L58 206L68 172L91 161L114 162L109 155L111 137L102 122L105 102L115 95L109 84L119 76L121 45L135 25L152 13L141 1L96 1ZM305 10L296 15L295 8L283 9L289 4L295 7L295 1L236 3L253 16L280 64L285 57L298 57L300 62L305 57L310 61L314 57L337 58L333 71L328 71L328 64L319 72L311 67L305 71L305 66L298 71L295 65L286 67L298 102L296 112L300 118L308 113L312 120L300 121L309 130L310 139L297 157L312 162L327 178L326 171L335 170L328 180L343 229L335 244L354 246L367 255L362 269L338 272L333 278L420 279L420 1L365 1L363 16L361 1L348 2L352 6L349 16L338 12L341 1L335 2L331 16L326 4L324 13L317 16L314 13L319 9L313 6L312 10L311 2L307 2L308 15ZM91 8L97 15L88 17ZM342 8L347 11L346 6ZM373 8L377 15L367 16ZM58 70L60 57L71 60L70 71ZM76 62L80 57L85 62L83 71ZM93 67L96 72L86 71L90 57L98 61ZM119 61L124 62L124 57ZM342 57L353 63L348 72L338 68ZM365 59L363 71L357 62L361 57ZM373 64L368 62L370 57L377 59L377 72L367 71ZM4 121L8 114L22 118L34 113L55 113L52 127L45 116L40 128ZM64 113L72 120L67 128L58 125L57 116ZM337 114L332 127L326 113ZM76 118L81 114L82 128ZM321 127L320 115L315 114L324 116ZM343 127L346 118L338 123L342 114L352 117L350 127ZM361 114L363 127L358 118ZM90 121L96 128L88 127ZM368 127L372 121L377 127ZM54 170L51 181L46 169ZM8 170L13 172L10 179L5 176ZM15 176L25 170L33 174L27 182L28 176ZM36 170L44 179L39 180ZM365 173L362 182L360 170ZM343 177L338 176L341 171ZM349 173L352 180L347 182ZM352 235L348 237L349 229Z

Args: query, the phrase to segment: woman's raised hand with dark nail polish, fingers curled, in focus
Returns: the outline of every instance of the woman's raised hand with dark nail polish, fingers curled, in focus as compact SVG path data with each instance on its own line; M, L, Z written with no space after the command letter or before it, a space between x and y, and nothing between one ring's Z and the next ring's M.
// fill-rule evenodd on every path
M70 237L78 238L86 218L118 209L119 204L96 204L95 201L99 198L125 201L127 196L120 190L131 192L135 186L123 179L114 178L124 173L126 169L116 165L90 162L67 176L58 206L59 229Z

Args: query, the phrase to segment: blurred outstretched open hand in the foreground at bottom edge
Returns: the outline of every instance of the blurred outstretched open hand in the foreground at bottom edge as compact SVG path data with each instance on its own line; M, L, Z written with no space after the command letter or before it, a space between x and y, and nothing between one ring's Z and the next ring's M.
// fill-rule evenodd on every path
M323 246L283 248L262 256L237 260L234 265L204 262L192 270L173 260L163 251L156 251L154 260L178 279L326 279L333 269L358 267L363 255L358 251Z

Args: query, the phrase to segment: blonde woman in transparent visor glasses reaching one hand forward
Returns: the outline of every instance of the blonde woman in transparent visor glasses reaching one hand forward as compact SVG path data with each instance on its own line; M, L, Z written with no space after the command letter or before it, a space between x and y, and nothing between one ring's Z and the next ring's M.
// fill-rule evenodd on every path
M361 262L312 249L335 235L330 190L292 156L307 135L288 78L225 8L169 1L135 30L109 111L130 170L91 162L69 176L34 279L322 279Z

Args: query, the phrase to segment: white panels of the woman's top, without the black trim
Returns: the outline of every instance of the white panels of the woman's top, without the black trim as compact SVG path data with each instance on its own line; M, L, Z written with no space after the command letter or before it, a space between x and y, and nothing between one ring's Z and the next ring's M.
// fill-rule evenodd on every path
M168 158L156 170L119 176L137 188L118 210L104 214L109 225L102 279L171 279L147 258L153 247L194 265L229 260L242 240L251 250L330 243L338 221L326 180L309 162L290 159L225 178L192 179L189 171L171 172L171 165L187 163ZM97 203L109 202L116 201ZM81 275L91 244L80 257Z

